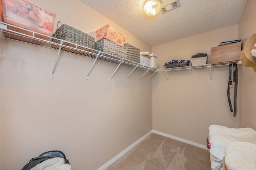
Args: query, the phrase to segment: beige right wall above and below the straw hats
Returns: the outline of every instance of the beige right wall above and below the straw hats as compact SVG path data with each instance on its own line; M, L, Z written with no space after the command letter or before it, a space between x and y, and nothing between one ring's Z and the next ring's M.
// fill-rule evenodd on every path
M246 40L256 32L256 1L248 0L244 13L239 22L239 38ZM256 129L256 110L255 110L255 86L256 73L250 67L242 67L242 90L241 90L241 110L239 127L251 127Z

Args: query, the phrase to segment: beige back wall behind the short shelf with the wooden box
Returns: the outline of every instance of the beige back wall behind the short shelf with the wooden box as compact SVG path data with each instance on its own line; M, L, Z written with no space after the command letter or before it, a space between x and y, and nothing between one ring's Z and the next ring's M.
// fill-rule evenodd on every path
M159 55L158 68L164 68L172 59L191 59L200 52L210 60L211 47L236 39L238 24L154 46L153 53ZM166 75L170 83L164 72L153 77L153 130L205 145L210 125L238 128L241 86L238 116L233 117L226 96L228 66L212 67L212 82L209 67L167 71Z

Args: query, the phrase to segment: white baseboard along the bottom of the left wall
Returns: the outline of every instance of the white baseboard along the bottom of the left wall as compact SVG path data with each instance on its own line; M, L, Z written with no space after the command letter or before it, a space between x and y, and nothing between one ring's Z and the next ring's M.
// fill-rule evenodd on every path
M136 142L134 142L131 146L129 146L128 148L126 148L123 152L121 152L120 154L118 154L116 157L114 157L112 160L108 161L106 164L104 164L102 167L100 167L98 170L105 170L106 168L108 168L110 165L114 164L114 162L116 162L118 159L120 159L122 156L124 156L127 152L129 152L132 148L134 148L135 146L137 146L140 142L142 142L145 138L147 138L150 134L152 133L152 130L150 132L148 132L147 134L145 134L144 136L142 136L142 138L140 138L139 140L137 140Z

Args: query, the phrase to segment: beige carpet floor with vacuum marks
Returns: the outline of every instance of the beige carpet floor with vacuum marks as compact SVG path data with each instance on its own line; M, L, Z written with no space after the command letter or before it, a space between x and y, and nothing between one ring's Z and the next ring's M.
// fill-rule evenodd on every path
M211 170L210 153L152 133L107 170Z

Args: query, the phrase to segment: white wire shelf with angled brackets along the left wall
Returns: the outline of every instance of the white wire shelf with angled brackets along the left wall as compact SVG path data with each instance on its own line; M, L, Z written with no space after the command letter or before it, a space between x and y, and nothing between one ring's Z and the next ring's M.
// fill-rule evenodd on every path
M57 38L46 36L44 34L40 34L38 32L33 32L31 30L27 30L24 28L6 24L4 22L0 22L0 29L3 32L2 38L6 38L6 39L18 41L18 42L23 42L23 43L30 43L33 45L40 45L40 46L46 47L46 48L56 49L56 50L59 50L58 55L59 55L60 51L65 51L65 52L69 52L69 53L75 53L77 55L82 55L85 57L90 57L92 59L95 59L95 61L101 60L101 61L106 61L109 63L114 63L114 64L117 64L118 67L120 65L122 65L122 66L131 67L131 68L138 69L138 70L143 70L143 71L146 71L146 73L153 73L153 74L157 71L156 68L152 68L147 65L142 65L140 63L136 63L136 62L130 61L128 59L124 59L124 58L117 57L117 56L114 56L114 55L111 55L108 53L104 53L102 51L97 51L95 49L77 45L72 42L67 42L65 40L60 40ZM54 40L54 42L52 42L53 40ZM57 60L58 60L58 56L56 58L56 62L57 62ZM95 61L94 61L94 63L95 63ZM56 66L56 62L54 64L54 69ZM93 67L93 65L92 65L92 67ZM92 67L91 67L91 69L92 69ZM118 67L116 68L116 70L118 69ZM54 77L53 76L54 69L52 71L51 78ZM91 69L90 69L90 71L91 71ZM134 69L132 70L132 72L134 71ZM115 70L115 72L116 72L116 70ZM114 73L112 74L112 76L114 75ZM144 73L142 76L144 76L146 73ZM129 74L129 76L130 76L130 74ZM89 75L89 73L88 73L88 75ZM86 76L86 79L88 79L88 75ZM111 77L110 77L110 80L111 80ZM126 80L128 77L126 77ZM142 77L140 77L140 79L141 78Z

